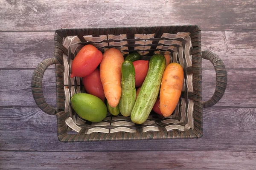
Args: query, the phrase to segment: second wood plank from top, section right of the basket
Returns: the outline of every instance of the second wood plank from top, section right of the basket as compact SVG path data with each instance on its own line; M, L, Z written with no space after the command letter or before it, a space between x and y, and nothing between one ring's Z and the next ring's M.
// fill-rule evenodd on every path
M217 54L227 69L256 68L256 30L202 31L202 51ZM214 68L202 61L202 68Z

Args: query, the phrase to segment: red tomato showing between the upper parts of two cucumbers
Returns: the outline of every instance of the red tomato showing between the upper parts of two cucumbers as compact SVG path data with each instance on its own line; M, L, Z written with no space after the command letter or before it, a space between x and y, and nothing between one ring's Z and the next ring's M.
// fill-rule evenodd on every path
M148 73L148 61L137 60L133 64L135 68L135 86L139 87L143 84Z

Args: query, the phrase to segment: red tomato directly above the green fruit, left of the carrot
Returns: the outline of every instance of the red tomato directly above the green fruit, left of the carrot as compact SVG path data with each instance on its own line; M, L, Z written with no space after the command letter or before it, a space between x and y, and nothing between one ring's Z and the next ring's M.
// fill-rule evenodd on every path
M104 102L105 95L103 91L102 82L99 76L99 68L96 68L91 74L82 78L84 88L88 94L99 97Z

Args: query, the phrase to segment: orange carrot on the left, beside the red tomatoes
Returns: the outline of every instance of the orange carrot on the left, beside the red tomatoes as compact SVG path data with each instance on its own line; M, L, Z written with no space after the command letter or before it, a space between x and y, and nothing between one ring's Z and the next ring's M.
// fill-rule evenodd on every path
M124 62L122 53L116 48L110 48L103 54L100 63L100 79L108 104L114 108L121 97L121 66Z

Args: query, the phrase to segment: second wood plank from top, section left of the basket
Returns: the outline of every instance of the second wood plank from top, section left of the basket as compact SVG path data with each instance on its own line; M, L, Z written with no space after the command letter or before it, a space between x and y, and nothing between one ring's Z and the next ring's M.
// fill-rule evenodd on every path
M0 68L35 68L53 57L54 32L0 32L0 37Z

